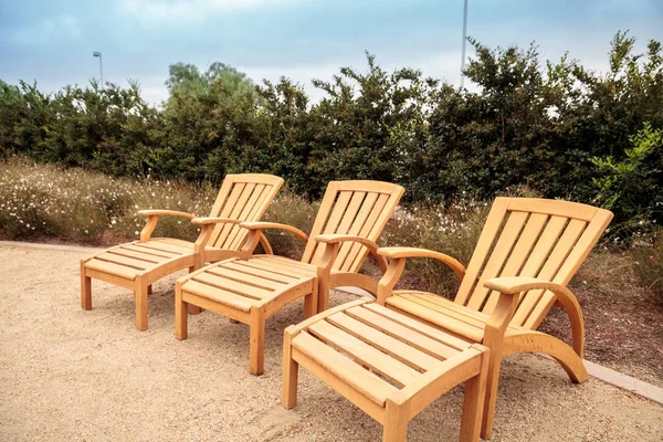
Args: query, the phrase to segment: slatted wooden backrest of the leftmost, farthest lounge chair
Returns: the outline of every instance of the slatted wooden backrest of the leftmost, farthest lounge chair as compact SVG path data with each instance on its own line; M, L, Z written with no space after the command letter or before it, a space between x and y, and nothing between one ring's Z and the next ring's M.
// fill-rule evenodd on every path
M210 217L260 221L281 186L283 186L283 178L273 175L227 175ZM240 250L248 234L246 229L241 229L236 224L217 224L212 230L209 245Z

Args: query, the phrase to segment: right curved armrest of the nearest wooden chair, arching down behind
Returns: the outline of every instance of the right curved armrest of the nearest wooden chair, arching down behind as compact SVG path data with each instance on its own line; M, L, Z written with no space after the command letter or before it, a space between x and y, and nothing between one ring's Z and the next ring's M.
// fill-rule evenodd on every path
M582 309L580 308L578 298L570 290L550 281L526 276L494 277L486 280L484 286L502 294L511 295L515 299L518 299L518 297L513 295L518 295L522 292L530 290L550 291L557 297L557 301L567 315L569 315L573 350L578 356L582 357L585 349L585 319L582 318Z

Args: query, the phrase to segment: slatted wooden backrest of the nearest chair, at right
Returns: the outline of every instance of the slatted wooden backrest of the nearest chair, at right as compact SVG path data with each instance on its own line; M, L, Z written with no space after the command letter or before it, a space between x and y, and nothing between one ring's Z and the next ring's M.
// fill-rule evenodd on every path
M484 281L528 276L566 285L597 243L612 212L577 202L496 198L455 302L491 314L497 293ZM549 291L520 293L512 325L536 329L555 304Z

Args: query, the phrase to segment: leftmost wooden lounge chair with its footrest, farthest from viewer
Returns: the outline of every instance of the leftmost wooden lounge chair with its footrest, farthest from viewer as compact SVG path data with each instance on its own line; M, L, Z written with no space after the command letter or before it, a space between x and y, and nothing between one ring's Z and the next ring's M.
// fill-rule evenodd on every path
M272 175L228 175L210 212L210 218L172 210L140 210L147 223L140 241L105 250L81 261L81 306L92 308L92 278L120 285L134 291L136 298L136 328L147 329L147 295L151 284L161 277L204 262L239 256L248 236L242 221L257 221L267 210L283 179ZM161 215L183 217L201 225L194 243L172 238L150 238ZM259 241L266 253L272 249L261 235Z

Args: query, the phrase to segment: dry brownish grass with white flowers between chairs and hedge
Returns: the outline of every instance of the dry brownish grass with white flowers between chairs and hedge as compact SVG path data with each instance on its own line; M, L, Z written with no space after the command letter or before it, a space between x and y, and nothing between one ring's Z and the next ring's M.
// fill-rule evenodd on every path
M209 185L113 178L82 169L40 165L13 158L0 164L0 238L29 241L62 241L87 244L116 244L135 240L145 220L139 209L172 209L206 215L218 189ZM527 189L512 196L530 197ZM265 219L295 225L309 232L319 204L282 190ZM490 203L464 198L428 208L399 208L379 240L381 245L410 245L431 249L456 257L467 265L490 210ZM654 243L632 249L623 260L592 260L600 271L585 272L586 281L598 291L623 293L620 269L634 266L642 284L663 293L663 233ZM196 239L198 231L187 220L162 217L155 235ZM299 257L304 245L295 236L266 231L274 251ZM614 253L610 253L613 255ZM631 257L632 256L632 257ZM635 263L635 264L634 264ZM377 267L367 266L377 275ZM592 276L596 275L596 276ZM596 281L593 281L596 280ZM410 260L401 285L453 294L457 280L453 272L432 260Z

